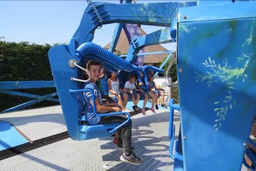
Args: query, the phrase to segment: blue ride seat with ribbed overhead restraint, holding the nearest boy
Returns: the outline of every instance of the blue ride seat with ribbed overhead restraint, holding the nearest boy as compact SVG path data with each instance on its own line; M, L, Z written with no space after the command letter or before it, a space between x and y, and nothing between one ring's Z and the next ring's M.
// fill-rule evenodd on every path
M95 126L81 124L86 122L82 116L84 106L83 92L85 90L83 90L82 84L76 80L81 81L82 75L82 71L80 71L78 66L84 66L85 62L89 60L102 62L108 71L113 72L132 72L134 67L129 62L95 43L83 43L77 48L77 43L74 39L71 40L69 45L52 47L48 55L68 134L73 140L80 141L109 136L114 134L118 128L121 128L122 124L127 123ZM77 79L75 80L74 78ZM82 81L84 82L84 80ZM96 113L94 105L93 110ZM126 114L129 118L126 112L96 113L96 115L101 117L122 114Z

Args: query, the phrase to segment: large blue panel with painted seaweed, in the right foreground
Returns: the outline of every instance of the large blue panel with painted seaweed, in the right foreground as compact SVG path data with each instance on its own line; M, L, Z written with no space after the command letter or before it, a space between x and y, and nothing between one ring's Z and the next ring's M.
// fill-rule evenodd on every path
M255 33L256 18L178 24L185 170L241 169L256 112Z

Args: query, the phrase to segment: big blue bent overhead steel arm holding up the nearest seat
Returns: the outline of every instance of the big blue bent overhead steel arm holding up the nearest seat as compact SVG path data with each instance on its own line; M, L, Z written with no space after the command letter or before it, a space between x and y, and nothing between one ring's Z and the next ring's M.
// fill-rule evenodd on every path
M77 47L84 42L92 41L95 29L101 24L135 23L170 27L172 18L176 16L179 7L195 6L197 3L110 4L93 2L93 4L99 16L90 6L85 9L80 26L72 37L76 40ZM103 23L99 22L100 20L103 20Z

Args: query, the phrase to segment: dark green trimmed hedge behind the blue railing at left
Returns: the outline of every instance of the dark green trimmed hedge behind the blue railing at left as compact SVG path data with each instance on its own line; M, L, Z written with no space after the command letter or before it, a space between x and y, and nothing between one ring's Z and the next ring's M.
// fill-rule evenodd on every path
M51 45L48 44L0 41L0 81L53 80L48 60L50 48ZM32 88L18 91L45 95L56 90L55 88ZM0 111L32 99L0 93ZM27 108L57 104L59 103L42 101Z

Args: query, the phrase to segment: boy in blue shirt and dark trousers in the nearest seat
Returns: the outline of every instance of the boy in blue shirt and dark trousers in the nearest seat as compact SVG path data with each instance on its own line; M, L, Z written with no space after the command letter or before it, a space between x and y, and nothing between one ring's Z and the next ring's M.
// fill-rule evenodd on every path
M118 107L116 103L104 104L101 98L101 93L98 90L98 87L95 85L96 81L101 75L101 63L98 61L89 61L86 69L91 74L91 79L88 83L85 84L85 89L91 89L95 95L95 107L97 113L108 113L108 112L121 112L122 109ZM98 125L98 124L111 124L111 123L123 123L127 120L124 115L118 116L109 116L109 117L99 117L93 113L92 108L92 94L91 92L84 92L85 107L84 115L86 121L89 125ZM120 159L123 162L128 162L132 164L141 164L143 159L135 156L132 150L132 121L130 120L126 125L117 130L117 136L122 139L123 142L123 154Z

